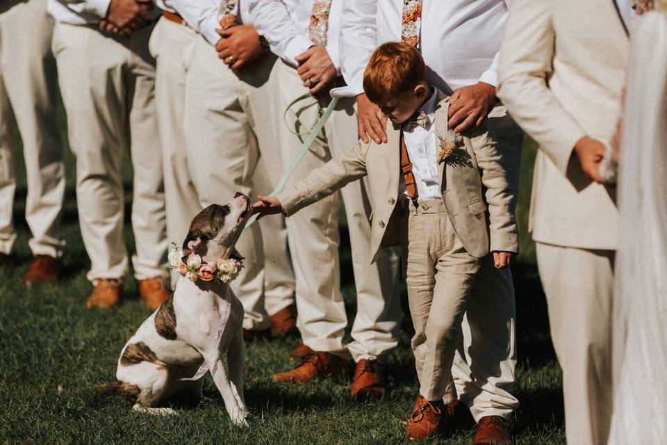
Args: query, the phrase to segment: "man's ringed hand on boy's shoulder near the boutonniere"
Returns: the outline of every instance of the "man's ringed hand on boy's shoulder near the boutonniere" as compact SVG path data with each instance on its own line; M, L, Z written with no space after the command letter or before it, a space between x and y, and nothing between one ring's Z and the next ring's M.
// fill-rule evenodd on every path
M495 87L488 83L478 82L459 88L447 99L450 102L447 126L455 133L479 127L496 101Z

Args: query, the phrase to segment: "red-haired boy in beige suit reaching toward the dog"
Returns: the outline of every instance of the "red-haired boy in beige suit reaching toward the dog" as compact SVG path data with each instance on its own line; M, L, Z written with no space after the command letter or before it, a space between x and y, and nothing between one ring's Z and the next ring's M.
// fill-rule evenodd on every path
M447 97L427 85L417 49L382 44L363 87L391 121L388 143L360 140L292 188L259 197L254 209L290 216L368 175L373 253L402 246L420 382L405 437L422 439L447 430L452 359L481 259L491 251L505 268L518 251L513 195L486 125L461 135L447 129Z

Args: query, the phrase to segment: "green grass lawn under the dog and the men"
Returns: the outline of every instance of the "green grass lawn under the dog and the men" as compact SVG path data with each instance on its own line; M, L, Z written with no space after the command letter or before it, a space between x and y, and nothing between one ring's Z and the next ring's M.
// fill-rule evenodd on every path
M63 113L59 108L59 118ZM64 128L65 124L61 125ZM0 270L0 443L2 444L393 444L401 442L402 417L411 409L418 385L409 349L411 322L404 310L399 347L388 357L390 393L381 400L353 401L347 380L311 385L277 384L272 373L288 369L286 354L295 339L252 344L246 349L245 391L252 417L249 428L231 425L220 394L207 375L204 401L179 407L179 416L136 414L120 396L99 388L114 379L126 339L150 314L125 286L124 305L108 311L83 307L92 286L90 266L77 225L74 163L67 154L67 202L63 234L67 272L56 285L26 289L20 278L31 254L24 220L26 186L20 152L15 200L19 232L15 264ZM534 149L525 150L519 215L525 229ZM131 168L126 165L125 238L130 250ZM345 225L340 248L343 293L350 317L355 312L354 280ZM561 373L550 337L544 296L532 245L522 234L522 256L514 267L520 354L516 396L522 405L514 429L517 444L565 444ZM403 295L406 308L405 294ZM442 444L468 444L460 432Z

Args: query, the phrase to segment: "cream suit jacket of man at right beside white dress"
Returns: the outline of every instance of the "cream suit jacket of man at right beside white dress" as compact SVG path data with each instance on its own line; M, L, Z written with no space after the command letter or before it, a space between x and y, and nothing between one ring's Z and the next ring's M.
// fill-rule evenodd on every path
M613 0L513 0L498 95L540 145L531 203L535 241L616 248L614 188L587 179L577 140L616 131L628 38Z

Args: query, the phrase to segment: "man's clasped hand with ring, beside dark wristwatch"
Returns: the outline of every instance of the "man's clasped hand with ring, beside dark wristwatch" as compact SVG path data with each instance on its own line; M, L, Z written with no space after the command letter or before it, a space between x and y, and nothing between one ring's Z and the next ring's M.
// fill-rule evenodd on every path
M220 34L220 40L215 45L217 56L232 70L239 70L264 52L259 34L252 25L235 25L215 31Z

